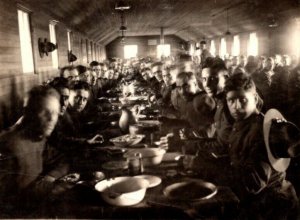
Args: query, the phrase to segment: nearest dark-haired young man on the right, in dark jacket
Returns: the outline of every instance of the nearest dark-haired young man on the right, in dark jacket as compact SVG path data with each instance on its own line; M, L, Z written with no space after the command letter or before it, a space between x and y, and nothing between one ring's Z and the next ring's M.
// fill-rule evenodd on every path
M264 116L257 109L258 94L251 77L231 76L225 86L226 102L235 123L229 137L229 185L241 201L241 219L294 219L297 197L268 160L263 136Z

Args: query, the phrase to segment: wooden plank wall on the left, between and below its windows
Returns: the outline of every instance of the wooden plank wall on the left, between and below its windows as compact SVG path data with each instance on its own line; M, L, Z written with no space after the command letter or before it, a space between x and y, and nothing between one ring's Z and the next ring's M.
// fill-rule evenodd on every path
M35 62L35 73L23 73L18 29L17 4L11 0L0 1L0 130L6 129L21 116L25 94L33 86L39 85L49 78L58 76L59 69L52 67L52 57L40 58L38 53L38 38L49 36L49 22L53 20L44 11L36 10L29 5L23 5L32 11L31 27ZM67 61L67 29L63 22L56 26L58 42L59 68L69 65ZM78 60L73 65L87 65L86 54L80 53L81 39L88 39L81 33L73 32L73 52ZM91 42L90 39L88 39ZM102 49L102 50L101 50ZM99 45L97 60L105 59L104 47Z

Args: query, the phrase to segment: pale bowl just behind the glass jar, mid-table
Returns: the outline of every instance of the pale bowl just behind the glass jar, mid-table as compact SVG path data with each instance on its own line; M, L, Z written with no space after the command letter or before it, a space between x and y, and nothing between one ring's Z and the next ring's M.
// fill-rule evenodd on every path
M142 161L144 166L154 166L161 163L165 149L161 148L135 148L128 150L125 154L125 158L130 158L140 153L142 155Z

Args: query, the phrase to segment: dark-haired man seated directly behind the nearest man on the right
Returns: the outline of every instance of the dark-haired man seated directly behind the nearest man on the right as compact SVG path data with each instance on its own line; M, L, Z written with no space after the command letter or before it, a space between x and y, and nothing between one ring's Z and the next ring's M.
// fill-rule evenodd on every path
M209 121L211 124L207 125L207 127L211 127L212 133L209 136L210 138L185 141L186 153L197 155L195 170L206 179L219 182L224 181L219 173L222 173L225 169L224 162L226 162L226 156L228 155L228 138L233 124L233 118L224 103L226 78L227 71L224 63L217 58L207 59L201 72L201 82L206 92L203 102L211 108L204 108L200 105L198 111L200 112L202 109L202 115L206 118L213 117L213 120ZM174 139L169 137L163 144L165 144L165 147L173 145Z

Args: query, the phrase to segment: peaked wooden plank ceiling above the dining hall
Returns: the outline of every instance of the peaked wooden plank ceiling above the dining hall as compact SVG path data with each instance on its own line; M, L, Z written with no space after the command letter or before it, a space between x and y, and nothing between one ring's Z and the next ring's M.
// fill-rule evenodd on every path
M120 36L119 0L24 0L101 44ZM197 41L283 23L299 16L298 0L124 0L126 36L174 34ZM297 12L298 10L298 12ZM297 14L298 13L298 14ZM228 15L228 17L227 17ZM228 25L227 25L228 20Z

